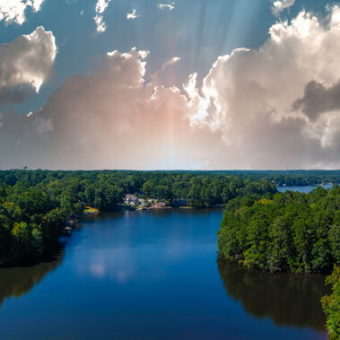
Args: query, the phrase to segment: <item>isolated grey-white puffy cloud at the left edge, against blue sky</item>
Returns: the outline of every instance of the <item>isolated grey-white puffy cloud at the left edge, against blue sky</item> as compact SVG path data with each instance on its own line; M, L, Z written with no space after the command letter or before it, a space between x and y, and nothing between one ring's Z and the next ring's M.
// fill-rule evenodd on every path
M40 26L31 34L0 44L0 105L20 102L53 74L57 54L51 31Z

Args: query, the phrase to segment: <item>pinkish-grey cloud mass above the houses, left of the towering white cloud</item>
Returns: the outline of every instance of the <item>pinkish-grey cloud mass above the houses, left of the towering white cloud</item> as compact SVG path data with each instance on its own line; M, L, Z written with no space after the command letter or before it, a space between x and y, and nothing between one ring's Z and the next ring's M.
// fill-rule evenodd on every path
M213 157L221 135L191 131L187 97L178 88L146 83L147 51L109 52L89 76L69 78L29 117L0 119L3 168L199 168L199 152ZM19 142L18 142L19 141ZM200 141L205 141L201 145ZM10 147L9 147L10 146ZM160 156L161 159L160 159ZM191 161L192 162L191 162ZM190 162L189 162L190 161Z

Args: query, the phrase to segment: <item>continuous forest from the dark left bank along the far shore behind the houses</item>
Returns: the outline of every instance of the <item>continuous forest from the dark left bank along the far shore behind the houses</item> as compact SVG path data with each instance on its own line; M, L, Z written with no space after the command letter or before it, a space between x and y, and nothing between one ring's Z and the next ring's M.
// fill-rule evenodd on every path
M273 183L219 173L152 171L0 171L0 262L43 254L56 244L68 217L84 205L117 209L126 194L143 192L169 203L213 206L240 195L274 193Z

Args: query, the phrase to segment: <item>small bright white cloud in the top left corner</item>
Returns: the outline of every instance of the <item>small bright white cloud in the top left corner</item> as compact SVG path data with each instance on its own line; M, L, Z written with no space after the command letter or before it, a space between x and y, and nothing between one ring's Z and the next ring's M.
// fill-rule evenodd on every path
M39 12L44 0L2 0L0 2L0 21L5 25L13 22L22 25L26 21L25 12L31 7L33 12Z

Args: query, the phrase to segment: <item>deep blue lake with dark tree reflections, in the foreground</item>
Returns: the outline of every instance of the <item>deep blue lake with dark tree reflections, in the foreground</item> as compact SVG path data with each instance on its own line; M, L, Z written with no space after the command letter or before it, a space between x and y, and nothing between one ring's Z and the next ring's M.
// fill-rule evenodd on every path
M1 339L326 339L323 275L218 260L221 209L85 218L54 259L0 268Z

